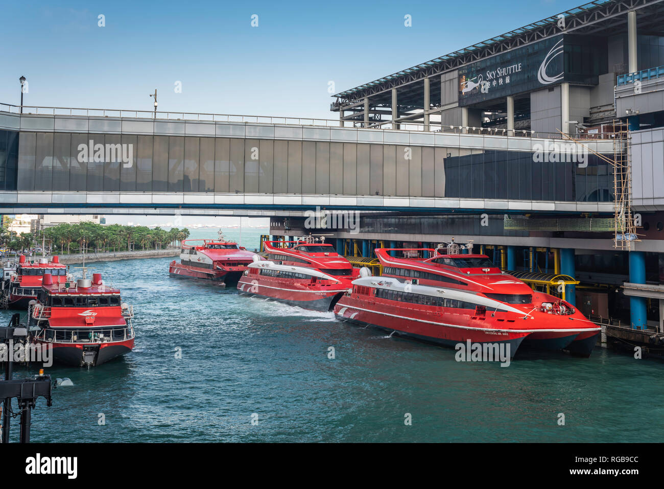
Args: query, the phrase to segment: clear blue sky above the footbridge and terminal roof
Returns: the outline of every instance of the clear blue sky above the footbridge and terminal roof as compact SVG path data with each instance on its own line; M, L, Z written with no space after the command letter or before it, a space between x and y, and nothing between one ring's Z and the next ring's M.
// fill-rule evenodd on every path
M26 105L151 110L157 88L160 110L335 119L329 82L341 92L581 4L5 2L0 102L19 103L24 75Z

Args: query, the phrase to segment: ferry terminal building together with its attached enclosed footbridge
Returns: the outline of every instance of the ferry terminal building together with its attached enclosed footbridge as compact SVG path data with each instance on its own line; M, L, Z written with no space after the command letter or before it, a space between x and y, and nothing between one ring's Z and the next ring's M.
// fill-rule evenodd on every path
M0 104L0 213L269 216L374 269L454 237L657 349L663 88L664 1L596 0L335 94L330 120Z

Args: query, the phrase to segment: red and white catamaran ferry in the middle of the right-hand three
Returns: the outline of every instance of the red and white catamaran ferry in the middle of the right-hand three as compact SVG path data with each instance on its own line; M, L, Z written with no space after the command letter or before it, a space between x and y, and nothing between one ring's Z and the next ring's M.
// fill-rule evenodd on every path
M312 237L294 242L264 241L263 247L268 259L249 265L238 282L240 294L329 311L359 276L359 270L323 239L320 243Z

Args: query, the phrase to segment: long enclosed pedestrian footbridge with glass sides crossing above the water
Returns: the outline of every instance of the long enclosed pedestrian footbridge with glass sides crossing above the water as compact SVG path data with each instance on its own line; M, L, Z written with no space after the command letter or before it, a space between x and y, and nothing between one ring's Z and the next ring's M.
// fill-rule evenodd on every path
M0 104L0 213L613 213L612 167L551 135ZM337 124L337 126L333 126ZM560 135L558 135L560 136ZM564 151L563 151L564 153Z

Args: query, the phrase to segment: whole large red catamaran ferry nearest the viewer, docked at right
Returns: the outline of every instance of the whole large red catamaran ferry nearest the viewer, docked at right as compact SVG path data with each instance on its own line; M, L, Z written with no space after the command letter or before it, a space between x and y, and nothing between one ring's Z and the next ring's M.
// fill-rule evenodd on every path
M376 256L383 276L355 280L335 305L338 319L448 346L509 342L512 354L523 345L588 357L600 334L568 302L533 291L486 255L459 253L454 243L448 250L378 248Z

